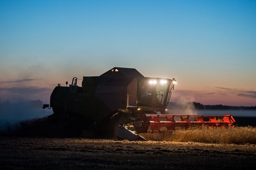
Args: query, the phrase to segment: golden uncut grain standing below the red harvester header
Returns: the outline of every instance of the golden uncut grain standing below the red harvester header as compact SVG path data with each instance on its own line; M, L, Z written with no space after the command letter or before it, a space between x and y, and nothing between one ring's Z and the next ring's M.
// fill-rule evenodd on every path
M217 144L256 144L255 127L191 127L168 133L143 133L148 140Z

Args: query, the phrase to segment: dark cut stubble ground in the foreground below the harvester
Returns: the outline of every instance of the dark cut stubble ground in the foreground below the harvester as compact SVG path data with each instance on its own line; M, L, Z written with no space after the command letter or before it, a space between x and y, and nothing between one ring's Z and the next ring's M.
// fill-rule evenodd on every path
M0 169L253 169L256 145L0 137Z

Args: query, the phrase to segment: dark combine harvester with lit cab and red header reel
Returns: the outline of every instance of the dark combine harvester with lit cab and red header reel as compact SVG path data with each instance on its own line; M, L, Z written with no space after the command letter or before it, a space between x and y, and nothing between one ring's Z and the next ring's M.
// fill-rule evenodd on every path
M84 76L54 88L51 122L62 122L66 137L144 140L139 133L168 132L189 126L234 126L232 115L168 114L176 80L144 77L136 69L115 67L101 76ZM133 129L132 132L128 129Z

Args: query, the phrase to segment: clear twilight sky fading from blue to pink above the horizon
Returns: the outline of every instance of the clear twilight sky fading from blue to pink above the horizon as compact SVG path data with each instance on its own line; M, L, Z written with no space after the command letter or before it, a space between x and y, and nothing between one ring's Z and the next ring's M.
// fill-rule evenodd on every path
M256 1L0 0L0 102L113 67L175 77L172 101L256 106Z

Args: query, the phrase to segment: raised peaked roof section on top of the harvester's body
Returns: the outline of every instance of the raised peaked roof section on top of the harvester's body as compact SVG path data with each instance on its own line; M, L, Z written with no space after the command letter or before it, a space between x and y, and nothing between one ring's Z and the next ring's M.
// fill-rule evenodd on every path
M113 74L121 74L126 77L144 77L139 71L131 68L114 67L103 73L101 76L112 76Z

